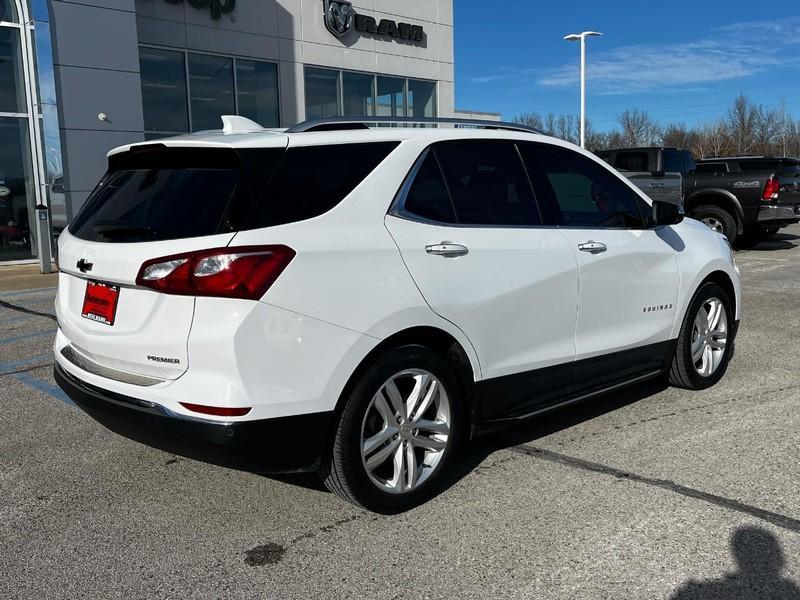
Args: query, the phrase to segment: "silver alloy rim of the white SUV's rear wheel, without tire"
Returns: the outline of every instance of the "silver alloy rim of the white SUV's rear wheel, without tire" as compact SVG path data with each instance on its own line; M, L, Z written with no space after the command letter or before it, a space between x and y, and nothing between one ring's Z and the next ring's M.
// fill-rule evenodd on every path
M361 460L370 481L408 493L434 473L451 440L447 390L432 373L407 369L373 396L361 425Z

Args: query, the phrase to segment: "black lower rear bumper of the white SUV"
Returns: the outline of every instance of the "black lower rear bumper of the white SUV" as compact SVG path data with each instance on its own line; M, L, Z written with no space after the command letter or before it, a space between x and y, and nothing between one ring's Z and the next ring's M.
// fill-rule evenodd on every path
M54 377L75 404L115 433L173 454L259 473L314 470L333 420L332 412L227 423L191 419L84 383L58 364Z

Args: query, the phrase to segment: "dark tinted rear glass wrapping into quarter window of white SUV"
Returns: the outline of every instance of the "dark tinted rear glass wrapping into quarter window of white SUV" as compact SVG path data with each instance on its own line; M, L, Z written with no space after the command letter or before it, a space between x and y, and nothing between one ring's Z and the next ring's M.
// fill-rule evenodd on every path
M139 146L110 158L109 171L69 229L88 241L132 243L310 219L341 202L396 146Z

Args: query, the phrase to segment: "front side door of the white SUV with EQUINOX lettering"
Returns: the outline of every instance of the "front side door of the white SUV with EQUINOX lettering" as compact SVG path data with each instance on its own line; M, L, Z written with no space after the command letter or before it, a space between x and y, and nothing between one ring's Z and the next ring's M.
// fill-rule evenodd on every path
M603 386L662 366L675 320L676 252L668 227L604 165L552 144L521 146L548 223L578 262L576 385Z

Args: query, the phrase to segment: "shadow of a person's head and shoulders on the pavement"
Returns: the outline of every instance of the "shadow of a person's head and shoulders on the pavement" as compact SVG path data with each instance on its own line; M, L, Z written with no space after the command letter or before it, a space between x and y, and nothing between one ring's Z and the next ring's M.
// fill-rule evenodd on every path
M670 600L800 600L800 587L783 577L781 544L761 527L740 527L731 536L737 570L719 579L689 580Z

